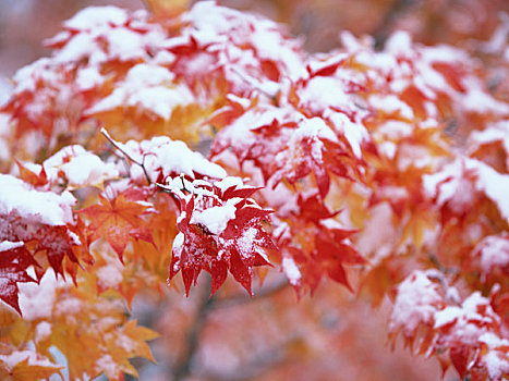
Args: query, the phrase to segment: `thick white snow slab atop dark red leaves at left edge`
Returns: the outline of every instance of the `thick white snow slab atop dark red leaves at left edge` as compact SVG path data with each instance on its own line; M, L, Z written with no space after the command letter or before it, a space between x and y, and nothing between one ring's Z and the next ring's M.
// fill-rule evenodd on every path
M73 222L75 202L70 192L36 190L20 179L0 174L0 214L15 212L32 222L64 225Z

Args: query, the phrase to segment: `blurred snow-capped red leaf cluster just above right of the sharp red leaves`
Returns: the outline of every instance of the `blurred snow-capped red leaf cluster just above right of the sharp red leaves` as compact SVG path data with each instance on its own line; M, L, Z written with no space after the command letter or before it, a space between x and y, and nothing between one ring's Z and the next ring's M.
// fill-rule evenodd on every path
M313 174L311 186L325 198L331 174L362 177L362 161L342 138L342 131L335 131L320 118L306 118L290 106L259 105L219 132L211 155L232 147L239 163L253 162L272 187L283 180L295 185Z

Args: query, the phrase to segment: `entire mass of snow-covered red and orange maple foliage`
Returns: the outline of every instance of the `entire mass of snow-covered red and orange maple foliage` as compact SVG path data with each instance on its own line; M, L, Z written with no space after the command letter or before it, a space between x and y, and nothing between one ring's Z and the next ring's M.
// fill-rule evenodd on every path
M0 298L23 318L5 318L1 371L58 372L56 347L72 379L136 374L154 333L119 300L178 274L189 295L202 271L213 294L228 272L251 294L272 263L299 295L324 279L375 305L396 293L392 340L508 376L509 106L490 83L507 44L488 69L405 33L307 54L214 2L90 8L63 28L2 108ZM209 159L184 143L210 135Z

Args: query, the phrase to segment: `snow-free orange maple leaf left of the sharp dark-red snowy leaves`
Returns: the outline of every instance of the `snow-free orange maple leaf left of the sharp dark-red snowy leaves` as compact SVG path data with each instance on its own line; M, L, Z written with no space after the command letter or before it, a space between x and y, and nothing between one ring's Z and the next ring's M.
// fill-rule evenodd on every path
M154 244L150 229L143 216L150 213L148 206L126 200L120 194L112 200L99 196L99 204L78 212L88 219L86 235L89 242L105 238L123 261L129 239L143 239Z

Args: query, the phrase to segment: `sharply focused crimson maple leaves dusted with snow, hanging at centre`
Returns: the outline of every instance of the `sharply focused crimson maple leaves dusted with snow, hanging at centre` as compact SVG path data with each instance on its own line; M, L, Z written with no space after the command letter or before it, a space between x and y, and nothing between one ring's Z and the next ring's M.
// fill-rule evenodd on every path
M205 270L211 275L214 294L230 271L251 294L252 268L270 265L267 250L276 250L262 224L271 211L250 198L257 188L235 177L216 182L177 177L169 181L168 189L181 208L169 280L181 271L189 294Z

